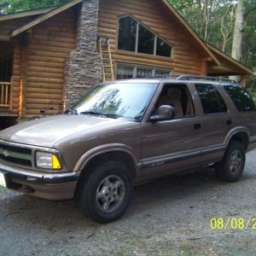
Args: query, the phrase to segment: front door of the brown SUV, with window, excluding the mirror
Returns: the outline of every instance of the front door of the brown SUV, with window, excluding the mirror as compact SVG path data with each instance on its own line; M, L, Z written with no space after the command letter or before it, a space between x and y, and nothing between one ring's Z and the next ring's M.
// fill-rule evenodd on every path
M201 125L186 84L165 84L155 105L171 105L174 119L142 124L143 179L198 165ZM154 113L153 113L154 114Z

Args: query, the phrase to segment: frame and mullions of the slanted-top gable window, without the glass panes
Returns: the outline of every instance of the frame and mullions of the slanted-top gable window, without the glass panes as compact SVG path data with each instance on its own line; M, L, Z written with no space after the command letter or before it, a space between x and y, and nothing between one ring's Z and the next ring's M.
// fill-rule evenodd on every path
M119 20L123 19L125 17L130 17L132 20L135 20L137 22L137 30L136 30L136 38L135 38L135 50L125 50L125 49L119 49ZM166 41L165 39L161 38L156 32L154 32L152 29L150 29L148 26L144 25L143 22L137 20L134 18L132 15L121 15L118 17L118 22L117 22L117 40L116 40L116 49L125 51L125 52L130 52L130 53L135 53L138 55L151 55L148 53L143 53L138 51L138 41L139 41L139 26L143 26L145 29L148 30L148 32L151 32L154 34L154 53L153 56L155 57L162 57L162 58L168 58L172 59L173 58L173 52L174 52L174 46L170 44L170 42ZM157 53L157 39L160 39L161 41L165 42L169 47L170 47L170 56L163 56L163 55L156 55Z

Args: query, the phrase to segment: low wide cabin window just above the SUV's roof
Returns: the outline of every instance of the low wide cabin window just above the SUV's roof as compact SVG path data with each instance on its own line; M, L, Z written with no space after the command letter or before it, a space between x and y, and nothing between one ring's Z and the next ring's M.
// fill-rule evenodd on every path
M116 79L149 78L149 77L169 77L170 70L155 67L140 67L137 65L118 64Z

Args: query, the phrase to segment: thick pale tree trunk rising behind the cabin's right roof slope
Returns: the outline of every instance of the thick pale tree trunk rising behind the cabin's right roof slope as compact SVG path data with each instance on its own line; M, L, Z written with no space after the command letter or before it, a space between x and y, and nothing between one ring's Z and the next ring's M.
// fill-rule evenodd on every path
M234 28L234 37L232 44L232 58L236 61L241 61L241 51L242 51L242 34L243 34L243 23L244 23L244 6L243 0L238 0L237 10L236 10L236 24ZM230 79L239 81L239 76L232 76Z

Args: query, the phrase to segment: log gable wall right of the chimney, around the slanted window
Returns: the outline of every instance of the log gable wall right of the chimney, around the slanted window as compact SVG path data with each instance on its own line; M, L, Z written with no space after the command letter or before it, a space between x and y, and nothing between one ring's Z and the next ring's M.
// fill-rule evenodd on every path
M172 58L119 50L119 17L132 15L156 35L173 46ZM160 67L173 74L205 74L206 54L195 38L181 26L161 1L100 1L98 34L109 38L114 63L133 63L143 67Z

